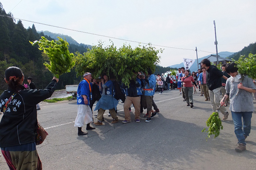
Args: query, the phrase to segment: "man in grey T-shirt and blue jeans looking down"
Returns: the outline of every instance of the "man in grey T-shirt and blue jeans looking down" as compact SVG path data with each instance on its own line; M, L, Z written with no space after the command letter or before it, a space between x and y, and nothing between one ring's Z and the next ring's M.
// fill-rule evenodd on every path
M254 111L253 93L256 92L256 86L250 77L238 73L235 63L228 63L225 69L231 77L227 79L226 94L221 99L221 105L223 106L226 99L230 97L229 109L238 139L238 146L235 150L241 152L246 150L245 139L249 136L251 130L251 118Z

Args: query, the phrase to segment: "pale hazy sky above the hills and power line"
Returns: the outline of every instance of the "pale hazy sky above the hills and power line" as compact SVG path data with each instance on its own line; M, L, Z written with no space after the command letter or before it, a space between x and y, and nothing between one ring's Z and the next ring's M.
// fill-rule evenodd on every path
M167 67L218 52L238 52L256 42L256 0L0 0L6 13L37 31L66 34L79 43L132 48L151 43ZM28 22L29 20L33 22ZM17 21L17 20L16 20ZM68 28L71 31L52 26ZM82 32L92 33L82 33ZM107 37L102 37L99 34ZM124 40L117 40L124 39ZM135 42L130 42L135 41ZM143 45L143 44L141 44ZM157 45L157 46L155 46Z

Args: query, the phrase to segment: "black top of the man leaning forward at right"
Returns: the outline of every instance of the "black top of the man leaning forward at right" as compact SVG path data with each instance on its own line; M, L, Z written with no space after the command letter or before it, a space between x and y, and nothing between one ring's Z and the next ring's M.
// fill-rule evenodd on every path
M221 87L221 77L223 76L222 71L220 71L215 65L210 65L207 69L206 82L210 91Z

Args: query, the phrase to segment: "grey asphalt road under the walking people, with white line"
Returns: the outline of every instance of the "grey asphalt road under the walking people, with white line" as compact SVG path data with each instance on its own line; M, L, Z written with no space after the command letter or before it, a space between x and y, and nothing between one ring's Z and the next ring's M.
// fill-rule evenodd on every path
M256 169L256 115L253 113L246 151L235 151L237 139L230 116L217 138L202 133L212 113L204 96L194 95L194 108L186 106L178 90L156 93L160 113L151 122L123 124L123 104L119 102L119 122L111 124L105 112L105 125L77 136L74 127L76 101L42 103L38 121L49 133L37 147L44 170L253 170ZM254 106L256 102L254 99ZM227 107L228 108L228 107ZM132 108L134 112L134 108ZM93 112L96 114L96 111ZM222 114L220 113L222 117ZM1 118L1 117L0 117ZM82 128L85 130L85 127ZM0 157L0 170L8 170Z

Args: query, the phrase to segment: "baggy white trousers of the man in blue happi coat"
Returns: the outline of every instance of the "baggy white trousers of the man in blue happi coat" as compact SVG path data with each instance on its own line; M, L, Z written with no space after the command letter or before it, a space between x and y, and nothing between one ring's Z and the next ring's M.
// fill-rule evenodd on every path
M77 105L75 127L83 127L84 124L93 122L93 113L89 105Z

